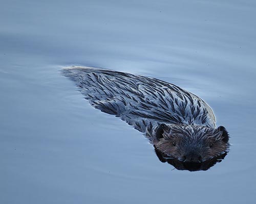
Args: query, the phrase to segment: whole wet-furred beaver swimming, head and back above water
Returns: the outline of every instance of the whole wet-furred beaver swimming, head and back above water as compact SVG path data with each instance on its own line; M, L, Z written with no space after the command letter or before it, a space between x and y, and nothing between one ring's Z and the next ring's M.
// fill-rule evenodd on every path
M216 127L211 108L174 84L91 67L73 66L62 73L96 109L144 133L164 160L202 163L228 151L228 133Z

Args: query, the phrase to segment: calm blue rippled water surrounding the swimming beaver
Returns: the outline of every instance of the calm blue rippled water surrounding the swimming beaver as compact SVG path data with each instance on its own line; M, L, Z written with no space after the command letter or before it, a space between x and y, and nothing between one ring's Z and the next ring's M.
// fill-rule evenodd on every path
M255 203L255 1L1 5L1 203ZM229 131L229 154L208 171L161 163L60 75L73 64L199 95Z

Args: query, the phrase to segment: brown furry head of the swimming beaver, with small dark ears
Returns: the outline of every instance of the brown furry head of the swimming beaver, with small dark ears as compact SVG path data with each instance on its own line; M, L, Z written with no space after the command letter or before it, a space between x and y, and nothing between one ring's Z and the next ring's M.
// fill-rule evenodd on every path
M200 125L160 124L153 133L154 146L169 159L204 162L227 152L228 133Z

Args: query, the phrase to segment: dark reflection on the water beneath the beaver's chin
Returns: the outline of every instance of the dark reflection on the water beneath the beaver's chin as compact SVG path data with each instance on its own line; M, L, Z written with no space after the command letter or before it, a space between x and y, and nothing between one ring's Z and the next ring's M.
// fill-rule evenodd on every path
M220 155L216 158L206 160L205 162L181 162L176 159L170 159L167 155L164 155L161 151L156 149L155 147L155 152L158 157L158 159L165 163L167 162L168 164L174 166L178 170L188 170L188 171L206 171L210 167L214 166L216 163L220 163L227 155L227 153L224 153L223 155Z

